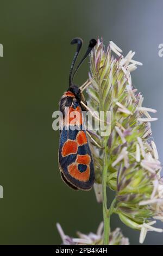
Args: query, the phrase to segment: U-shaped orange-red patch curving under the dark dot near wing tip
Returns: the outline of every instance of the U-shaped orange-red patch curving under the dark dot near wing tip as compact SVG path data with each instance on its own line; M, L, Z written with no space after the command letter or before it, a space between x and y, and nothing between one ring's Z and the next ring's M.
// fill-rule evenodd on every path
M75 163L70 164L68 166L68 173L75 179L79 181L87 181L90 178L90 167L87 166L85 172L80 173Z

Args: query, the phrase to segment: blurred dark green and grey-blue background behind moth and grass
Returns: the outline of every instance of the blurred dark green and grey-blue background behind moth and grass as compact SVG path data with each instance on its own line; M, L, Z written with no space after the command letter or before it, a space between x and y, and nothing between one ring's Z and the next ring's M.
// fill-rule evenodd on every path
M93 190L70 190L58 168L59 132L52 130L52 113L68 86L72 38L84 39L83 53L97 36L105 45L114 41L124 54L136 51L134 59L143 66L134 71L133 84L145 96L143 106L158 109L152 129L163 162L162 7L161 0L0 1L1 245L59 244L56 222L74 236L77 230L96 231L102 221ZM76 83L85 82L88 70L87 60ZM117 216L111 227L121 227L131 244L139 244L139 232ZM163 244L162 234L149 233L145 244Z

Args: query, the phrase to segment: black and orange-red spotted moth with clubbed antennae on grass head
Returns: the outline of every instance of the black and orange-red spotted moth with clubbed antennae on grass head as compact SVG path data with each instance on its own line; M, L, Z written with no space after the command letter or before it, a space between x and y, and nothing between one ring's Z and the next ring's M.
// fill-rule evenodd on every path
M82 92L91 82L86 82L79 88L73 84L73 78L80 65L96 45L96 40L90 40L89 47L74 72L74 64L83 41L80 38L74 38L71 44L77 44L77 51L74 54L70 69L69 87L67 92L62 95L59 103L59 110L63 115L59 141L59 168L62 180L68 186L74 190L90 190L95 182L95 171L86 131L83 129L82 111L86 111L87 103Z

